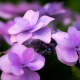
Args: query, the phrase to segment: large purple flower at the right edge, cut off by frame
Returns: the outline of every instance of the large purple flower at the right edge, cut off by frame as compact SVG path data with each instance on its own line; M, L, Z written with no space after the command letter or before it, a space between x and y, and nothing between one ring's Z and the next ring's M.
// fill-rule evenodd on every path
M78 55L80 55L80 32L75 27L70 26L68 33L60 31L53 34L52 38L58 44L56 46L58 59L69 66L75 65L79 58Z

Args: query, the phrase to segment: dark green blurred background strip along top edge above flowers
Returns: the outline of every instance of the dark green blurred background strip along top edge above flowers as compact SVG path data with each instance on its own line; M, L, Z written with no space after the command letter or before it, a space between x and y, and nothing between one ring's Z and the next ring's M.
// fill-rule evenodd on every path
M0 2L11 2L11 3L18 3L20 1L26 1L26 2L33 2L33 1L38 1L42 5L49 3L49 2L64 2L64 6L69 7L71 10L80 12L80 0L0 0Z

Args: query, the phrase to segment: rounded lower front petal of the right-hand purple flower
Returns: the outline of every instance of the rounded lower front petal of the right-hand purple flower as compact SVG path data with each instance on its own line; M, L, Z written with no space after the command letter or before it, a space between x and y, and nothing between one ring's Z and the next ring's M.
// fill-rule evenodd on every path
M62 49L62 58L66 62L76 62L78 60L78 55L74 48L68 46Z

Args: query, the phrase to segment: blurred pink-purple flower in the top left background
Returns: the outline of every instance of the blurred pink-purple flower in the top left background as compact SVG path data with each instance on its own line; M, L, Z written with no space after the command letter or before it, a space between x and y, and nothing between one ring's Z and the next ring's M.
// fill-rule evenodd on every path
M17 5L13 5L12 3L0 3L0 17L4 19L10 19L25 13L27 10L36 10L36 8L38 8L39 6L40 5L38 2L20 2Z

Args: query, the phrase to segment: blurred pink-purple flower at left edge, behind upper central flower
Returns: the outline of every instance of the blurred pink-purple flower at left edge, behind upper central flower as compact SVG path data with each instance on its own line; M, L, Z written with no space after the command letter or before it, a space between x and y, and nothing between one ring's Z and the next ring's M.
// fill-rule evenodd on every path
M0 21L0 35L6 40L6 42L11 45L10 43L10 34L8 33L8 29L14 25L14 21L10 20L6 23Z

